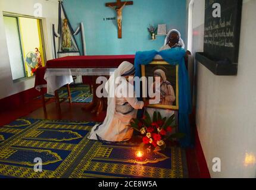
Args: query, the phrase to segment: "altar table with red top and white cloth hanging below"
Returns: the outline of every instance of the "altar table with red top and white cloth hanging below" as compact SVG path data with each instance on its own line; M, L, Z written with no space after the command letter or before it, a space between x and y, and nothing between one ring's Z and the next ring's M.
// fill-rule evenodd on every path
M92 110L98 116L103 110L104 100L96 97L96 78L109 76L123 61L134 64L135 55L67 56L52 59L46 62L45 68L36 71L35 88L40 90L47 87L49 94L57 96L58 88L73 83L72 75L92 76L93 99L83 109Z

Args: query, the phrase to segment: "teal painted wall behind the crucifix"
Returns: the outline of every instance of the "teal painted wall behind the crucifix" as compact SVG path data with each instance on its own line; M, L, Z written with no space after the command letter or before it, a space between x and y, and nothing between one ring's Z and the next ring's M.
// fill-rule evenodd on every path
M127 55L138 50L158 50L165 36L152 41L148 33L149 24L167 24L167 30L177 29L186 43L186 0L133 0L133 5L123 9L123 38L117 38L115 11L105 7L115 0L64 0L71 26L76 30L79 23L85 26L88 55ZM82 50L80 37L76 37Z

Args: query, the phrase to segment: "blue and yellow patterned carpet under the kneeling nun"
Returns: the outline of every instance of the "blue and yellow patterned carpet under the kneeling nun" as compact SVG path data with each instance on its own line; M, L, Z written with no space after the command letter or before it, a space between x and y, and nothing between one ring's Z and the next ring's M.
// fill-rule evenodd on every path
M185 151L172 147L143 160L138 144L88 140L95 123L17 119L0 128L0 178L188 178ZM35 158L42 172L35 172Z

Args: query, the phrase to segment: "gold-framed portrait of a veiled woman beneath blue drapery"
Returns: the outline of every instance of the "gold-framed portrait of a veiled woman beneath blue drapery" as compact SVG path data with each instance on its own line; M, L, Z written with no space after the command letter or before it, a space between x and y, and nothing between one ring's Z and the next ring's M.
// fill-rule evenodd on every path
M149 96L149 94L155 93L155 78L160 77L160 102L158 101L159 103L155 105L148 105L148 107L179 110L178 70L178 65L170 65L163 60L152 61L148 65L141 65L144 100L146 98L155 99L155 97ZM149 77L153 78L153 80L149 80Z

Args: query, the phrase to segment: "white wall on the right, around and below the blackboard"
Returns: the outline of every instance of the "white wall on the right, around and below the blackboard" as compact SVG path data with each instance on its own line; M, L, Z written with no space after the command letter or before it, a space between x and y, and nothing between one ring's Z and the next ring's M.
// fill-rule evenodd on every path
M255 0L243 1L237 76L197 63L196 125L212 178L256 178L255 10ZM193 52L203 50L203 30L204 0L195 0ZM221 172L212 170L214 157Z

